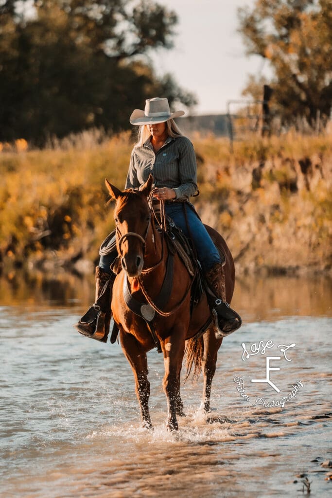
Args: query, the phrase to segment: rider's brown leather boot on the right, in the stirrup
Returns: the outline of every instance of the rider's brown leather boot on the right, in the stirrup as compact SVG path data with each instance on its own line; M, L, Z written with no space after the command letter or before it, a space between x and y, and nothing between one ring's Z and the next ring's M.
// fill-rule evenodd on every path
M223 264L216 263L206 274L212 291L208 295L211 312L217 327L216 338L228 336L241 326L241 318L226 302L225 272ZM216 299L217 298L217 299Z

